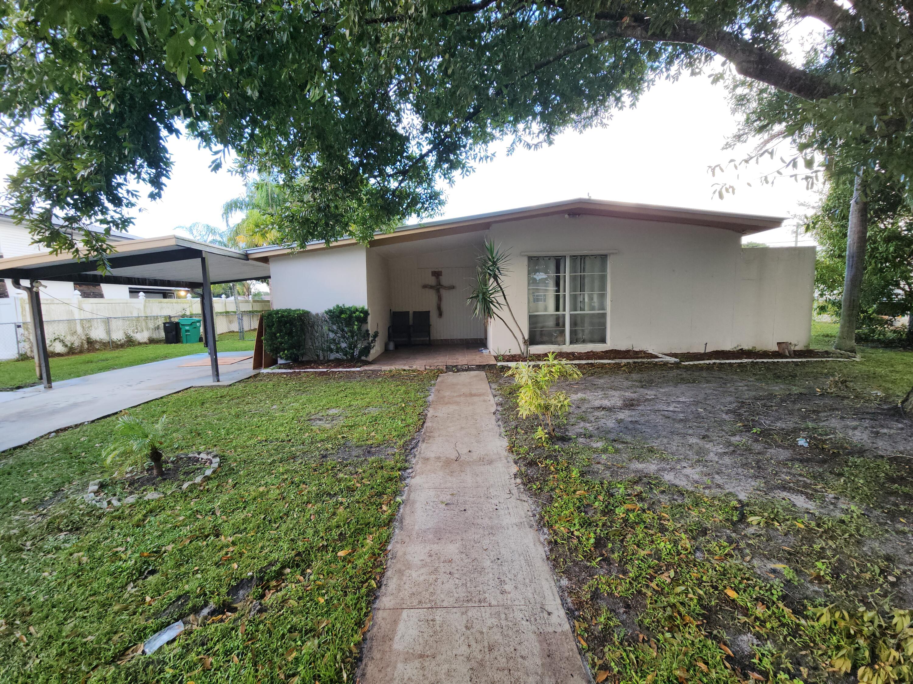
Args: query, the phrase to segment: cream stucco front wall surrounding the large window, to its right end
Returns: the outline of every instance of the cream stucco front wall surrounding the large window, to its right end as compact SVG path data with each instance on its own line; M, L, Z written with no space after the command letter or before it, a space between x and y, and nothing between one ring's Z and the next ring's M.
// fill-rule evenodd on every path
M773 293L790 291L788 285L774 283L775 272L789 268L789 259L755 257L763 262L756 268L758 280L743 287L737 273L742 253L749 250L741 247L739 233L582 215L495 223L489 236L513 258L508 295L524 329L528 320L527 255L603 253L610 254L608 347L701 351L705 344L708 349L771 348L784 340L808 344L811 280L807 274L795 275L799 289L793 288L790 297L778 297ZM809 257L795 258L804 265ZM813 250L811 268L813 273ZM753 295L754 301L763 305L758 310L751 310L751 293L758 293ZM750 326L746 327L749 319ZM778 336L782 337L774 339ZM488 343L493 351L517 347L509 331L497 321L491 326Z

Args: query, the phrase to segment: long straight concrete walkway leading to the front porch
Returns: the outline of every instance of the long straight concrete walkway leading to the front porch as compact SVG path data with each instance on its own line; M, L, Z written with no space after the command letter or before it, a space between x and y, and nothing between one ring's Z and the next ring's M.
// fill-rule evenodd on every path
M437 380L362 684L589 681L494 413L484 373Z

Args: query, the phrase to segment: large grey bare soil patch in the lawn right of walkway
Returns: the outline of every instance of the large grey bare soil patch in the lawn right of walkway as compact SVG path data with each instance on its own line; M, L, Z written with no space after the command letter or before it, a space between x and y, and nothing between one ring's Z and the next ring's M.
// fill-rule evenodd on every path
M913 525L899 520L913 523L913 427L897 406L844 396L824 382L797 384L774 368L594 372L567 391L574 408L566 437L614 445L593 462L594 476L661 478L813 517L856 507L879 532L864 551L897 568L897 605L913 606ZM749 524L739 532L758 538ZM776 536L779 552L799 535Z

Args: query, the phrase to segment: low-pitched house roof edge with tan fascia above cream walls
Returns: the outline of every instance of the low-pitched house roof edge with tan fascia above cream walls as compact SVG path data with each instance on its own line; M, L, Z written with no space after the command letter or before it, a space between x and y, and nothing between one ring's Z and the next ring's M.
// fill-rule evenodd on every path
M442 235L456 235L459 233L473 233L487 231L494 223L507 223L524 219L537 219L544 216L570 214L572 216L609 216L613 218L637 219L640 221L656 221L662 223L683 223L687 225L702 225L709 228L750 235L779 228L786 219L782 216L759 216L750 213L711 212L704 209L688 209L686 207L669 207L659 204L636 204L634 202L613 202L609 200L593 200L590 198L577 198L562 202L549 202L535 204L529 207L519 207L500 212L477 213L471 216L462 216L456 219L429 221L402 225L390 233L375 233L371 246L382 244L396 244L422 240L428 237ZM348 244L357 244L352 238L344 238L333 244L332 247L341 247ZM289 245L268 245L254 247L246 250L251 259L268 261L272 256L281 256L296 251L310 251L326 249L323 241L314 241L299 250Z

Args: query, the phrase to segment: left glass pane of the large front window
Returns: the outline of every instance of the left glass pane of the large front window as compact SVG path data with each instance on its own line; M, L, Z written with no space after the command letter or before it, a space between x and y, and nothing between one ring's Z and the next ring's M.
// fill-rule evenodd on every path
M530 256L527 296L530 344L563 345L567 311L567 268L563 256Z

